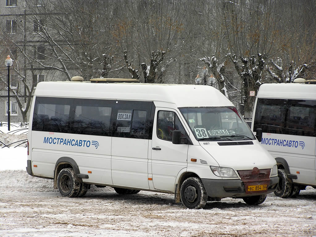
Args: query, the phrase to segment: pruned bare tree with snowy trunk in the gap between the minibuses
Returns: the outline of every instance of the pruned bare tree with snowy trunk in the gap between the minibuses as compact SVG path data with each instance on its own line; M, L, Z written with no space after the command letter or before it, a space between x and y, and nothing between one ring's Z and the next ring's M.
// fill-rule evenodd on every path
M270 61L283 50L279 42L287 43L286 29L282 28L282 14L276 6L282 0L261 2L227 1L222 8L222 24L226 29L227 58L234 65L240 80L240 110L250 116L254 97L249 91L257 92ZM277 40L276 40L277 39ZM238 56L237 56L238 55Z

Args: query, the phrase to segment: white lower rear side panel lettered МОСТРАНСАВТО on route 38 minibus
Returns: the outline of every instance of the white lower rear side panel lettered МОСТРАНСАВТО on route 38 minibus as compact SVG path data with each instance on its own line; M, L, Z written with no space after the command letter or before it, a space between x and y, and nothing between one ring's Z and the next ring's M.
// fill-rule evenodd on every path
M111 137L32 132L32 164L38 165L36 169L33 169L34 175L54 177L57 160L61 157L70 157L76 161L82 173L88 174L88 171L91 171L89 178L86 179L87 182L112 184ZM60 138L63 139L62 143L60 143ZM94 139L98 142L98 147L92 145ZM86 146L83 146L83 141L86 141ZM87 141L89 141L89 147L87 147Z

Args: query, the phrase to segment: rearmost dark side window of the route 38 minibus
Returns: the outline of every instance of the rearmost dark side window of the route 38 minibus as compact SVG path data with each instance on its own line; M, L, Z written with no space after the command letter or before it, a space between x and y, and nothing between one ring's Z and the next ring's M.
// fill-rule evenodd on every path
M70 132L70 107L73 99L36 97L33 131Z

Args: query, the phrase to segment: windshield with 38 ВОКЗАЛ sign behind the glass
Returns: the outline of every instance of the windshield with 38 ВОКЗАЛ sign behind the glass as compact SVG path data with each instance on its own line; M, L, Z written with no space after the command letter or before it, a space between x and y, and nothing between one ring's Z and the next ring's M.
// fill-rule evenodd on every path
M179 110L197 140L256 139L235 107L190 107Z

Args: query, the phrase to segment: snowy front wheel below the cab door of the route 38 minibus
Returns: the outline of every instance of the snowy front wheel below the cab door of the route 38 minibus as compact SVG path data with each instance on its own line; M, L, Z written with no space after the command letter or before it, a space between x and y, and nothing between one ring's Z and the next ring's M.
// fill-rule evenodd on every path
M190 177L182 183L180 197L186 207L200 209L205 206L208 195L202 181L197 177Z

